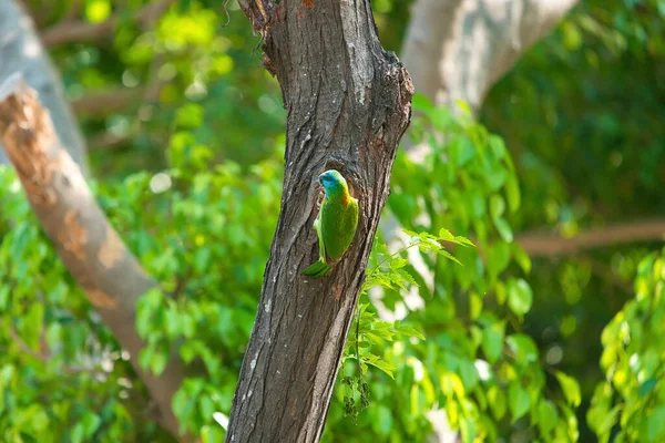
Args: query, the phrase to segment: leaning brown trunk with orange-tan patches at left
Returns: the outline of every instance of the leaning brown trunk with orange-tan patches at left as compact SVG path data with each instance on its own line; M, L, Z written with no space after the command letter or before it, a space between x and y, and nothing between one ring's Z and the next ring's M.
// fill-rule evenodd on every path
M49 112L19 75L0 85L0 142L61 259L129 351L158 408L160 423L177 435L171 409L171 398L184 377L177 353L158 377L139 364L144 342L135 328L136 300L155 282L109 224L80 167L58 138Z

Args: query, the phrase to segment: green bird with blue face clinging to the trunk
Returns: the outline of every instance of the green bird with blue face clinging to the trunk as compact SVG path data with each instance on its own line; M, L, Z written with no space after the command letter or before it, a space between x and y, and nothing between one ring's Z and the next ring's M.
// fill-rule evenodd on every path
M351 245L358 226L358 200L349 194L346 179L335 169L317 178L326 193L314 228L319 239L319 259L303 275L324 277Z

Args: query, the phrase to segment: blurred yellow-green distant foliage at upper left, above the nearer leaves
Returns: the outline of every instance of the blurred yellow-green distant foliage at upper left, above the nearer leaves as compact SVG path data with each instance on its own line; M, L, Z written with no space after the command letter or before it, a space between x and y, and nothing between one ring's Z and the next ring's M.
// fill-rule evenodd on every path
M78 0L58 8L27 3L44 11L38 23L47 29L66 28L79 10ZM174 4L150 23L132 17L154 1L84 3L83 23L115 18L115 32L91 44L54 48L52 54L68 97L95 102L80 110L79 121L96 177L167 167L164 146L173 124L184 120L217 159L247 165L272 155L285 112L277 82L262 69L259 38L236 1ZM109 93L119 102L105 99Z

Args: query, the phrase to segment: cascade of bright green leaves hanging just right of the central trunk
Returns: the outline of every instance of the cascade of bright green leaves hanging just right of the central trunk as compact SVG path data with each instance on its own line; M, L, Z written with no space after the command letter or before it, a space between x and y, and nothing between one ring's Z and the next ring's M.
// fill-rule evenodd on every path
M444 408L450 425L468 442L520 433L543 441L575 440L579 385L555 372L550 378L560 380L562 394L549 392L539 350L521 329L533 295L518 275L528 272L531 262L512 243L505 218L518 210L520 194L503 142L468 114L456 121L446 109L433 107L422 96L415 105L421 119L410 131L410 142L427 142L432 152L421 163L398 155L389 207L408 229L440 230L440 238L424 237L419 246L467 244L463 237L442 229L450 227L456 234L477 238L484 259L478 249L458 246L454 256L464 265L458 266L444 256L444 249L432 255L426 247L418 253L419 259L397 257L380 277L368 276L369 286L383 287L382 296L370 297L375 309L403 312L398 320L412 324L427 340L402 338L390 343L381 338L370 343L359 337L368 347L374 344L369 356L380 357L376 348L382 346L382 359L388 363L385 370L397 382L380 373L364 374L369 396L376 400L365 420L362 414L356 419L358 429L344 434L345 440L356 441L355 433L374 431L386 440L423 441L431 432L427 414L438 408ZM409 235L415 236L413 231ZM374 257L376 264L378 257ZM420 260L426 271L417 269ZM510 267L511 262L516 267ZM427 271L434 272L433 281L426 280ZM420 308L405 305L409 298L420 299ZM364 306L360 311L362 330L374 310ZM395 327L377 323L393 336ZM371 327L365 332L371 333ZM354 338L349 341L352 348ZM345 371L349 369L347 364ZM348 384L348 375L342 380ZM338 392L336 398L341 400L340 395ZM356 398L362 405L362 398ZM346 404L349 410L348 400ZM344 419L336 414L332 409L329 429L337 435L337 423Z

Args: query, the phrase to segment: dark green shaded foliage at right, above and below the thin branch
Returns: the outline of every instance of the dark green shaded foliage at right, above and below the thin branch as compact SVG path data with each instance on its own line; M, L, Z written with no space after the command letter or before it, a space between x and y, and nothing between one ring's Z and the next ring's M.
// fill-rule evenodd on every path
M581 1L489 93L481 122L505 140L520 177L515 231L561 237L665 214L662 192L665 9L656 0ZM601 333L633 297L637 266L659 241L534 259L528 333L581 383L604 378Z

